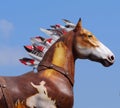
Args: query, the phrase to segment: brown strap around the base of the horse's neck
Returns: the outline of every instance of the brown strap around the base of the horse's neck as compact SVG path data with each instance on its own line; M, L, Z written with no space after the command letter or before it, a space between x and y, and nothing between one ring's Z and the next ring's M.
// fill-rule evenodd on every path
M70 82L71 86L73 87L73 79L70 77L69 72L66 71L64 68L59 67L57 65L54 65L52 63L40 63L39 66L43 66L44 68L39 69L39 71L45 70L45 69L54 69L56 72L59 72L60 74L64 75L68 81Z

